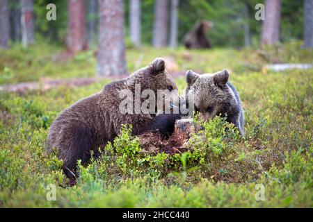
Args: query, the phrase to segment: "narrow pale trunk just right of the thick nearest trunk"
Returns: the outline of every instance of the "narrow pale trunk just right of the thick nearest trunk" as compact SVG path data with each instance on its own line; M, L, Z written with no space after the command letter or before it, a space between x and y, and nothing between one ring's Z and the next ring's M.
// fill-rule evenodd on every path
M141 0L131 0L129 9L129 32L131 42L141 46Z

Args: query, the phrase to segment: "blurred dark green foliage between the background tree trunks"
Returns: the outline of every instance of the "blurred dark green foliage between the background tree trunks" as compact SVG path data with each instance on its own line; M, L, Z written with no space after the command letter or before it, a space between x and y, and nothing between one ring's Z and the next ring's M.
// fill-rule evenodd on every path
M56 4L56 21L46 19L48 3ZM259 0L197 0L179 1L178 40L182 39L196 22L203 19L214 22L209 31L213 46L244 46L244 24L250 28L252 45L259 44L262 21L255 19L255 6L264 3ZM170 3L169 3L170 5ZM10 1L10 8L19 8L19 3ZM90 13L89 1L86 1L86 20L99 19L99 12ZM170 6L168 6L170 9ZM245 15L245 8L247 15ZM38 0L34 1L35 31L49 41L65 45L67 33L67 1ZM125 1L125 30L129 36L129 1ZM170 10L169 10L170 14ZM151 44L154 19L154 1L141 1L141 39L144 44ZM168 22L170 22L168 20ZM282 41L299 40L303 37L303 2L282 1L281 39ZM38 37L38 35L37 35ZM94 40L92 40L95 42ZM90 42L92 43L92 42ZM131 47L129 38L126 45Z

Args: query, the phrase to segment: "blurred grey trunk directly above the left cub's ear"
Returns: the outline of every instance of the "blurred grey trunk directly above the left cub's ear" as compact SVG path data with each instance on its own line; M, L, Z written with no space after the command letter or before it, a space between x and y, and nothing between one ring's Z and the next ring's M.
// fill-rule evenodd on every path
M154 1L154 24L152 44L156 48L168 44L168 0Z

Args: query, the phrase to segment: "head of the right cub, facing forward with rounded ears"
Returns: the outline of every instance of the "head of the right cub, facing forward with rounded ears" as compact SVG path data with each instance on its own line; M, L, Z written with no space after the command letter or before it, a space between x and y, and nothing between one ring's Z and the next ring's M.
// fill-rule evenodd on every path
M232 107L234 93L227 85L229 74L227 69L215 74L197 74L186 71L186 101L195 112L200 112L204 119L212 119L218 114L224 115Z

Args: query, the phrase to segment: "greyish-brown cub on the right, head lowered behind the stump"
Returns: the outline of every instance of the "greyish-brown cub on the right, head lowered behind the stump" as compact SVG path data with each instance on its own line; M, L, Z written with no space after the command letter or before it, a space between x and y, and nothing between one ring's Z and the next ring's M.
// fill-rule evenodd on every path
M239 93L228 82L227 69L215 74L196 74L186 72L186 104L188 96L193 98L195 112L200 112L204 119L212 119L218 114L226 116L229 123L233 123L244 135L243 108Z

